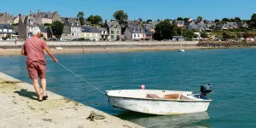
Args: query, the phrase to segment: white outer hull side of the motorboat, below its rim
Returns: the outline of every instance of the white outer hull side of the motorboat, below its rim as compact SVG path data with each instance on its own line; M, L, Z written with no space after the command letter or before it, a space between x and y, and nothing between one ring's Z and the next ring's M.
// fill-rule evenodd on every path
M158 115L205 112L211 101L169 101L109 96L113 107Z

